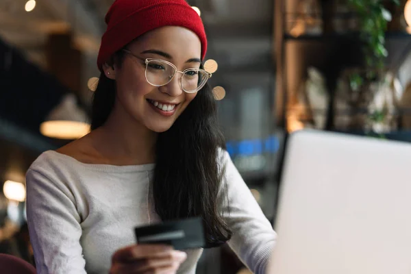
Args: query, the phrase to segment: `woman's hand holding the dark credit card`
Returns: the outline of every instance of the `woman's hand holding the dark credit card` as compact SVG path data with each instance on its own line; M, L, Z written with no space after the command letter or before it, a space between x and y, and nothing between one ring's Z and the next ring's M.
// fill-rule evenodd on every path
M110 274L173 274L186 258L165 245L132 245L114 253Z

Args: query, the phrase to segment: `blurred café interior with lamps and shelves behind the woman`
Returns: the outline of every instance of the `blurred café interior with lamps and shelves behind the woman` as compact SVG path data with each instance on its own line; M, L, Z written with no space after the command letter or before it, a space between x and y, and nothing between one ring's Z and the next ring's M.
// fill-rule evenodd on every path
M32 262L25 172L88 132L113 0L0 0L0 253ZM284 144L315 128L411 140L411 1L190 0L234 164L275 219ZM212 262L212 264L210 264ZM198 273L247 273L227 247Z

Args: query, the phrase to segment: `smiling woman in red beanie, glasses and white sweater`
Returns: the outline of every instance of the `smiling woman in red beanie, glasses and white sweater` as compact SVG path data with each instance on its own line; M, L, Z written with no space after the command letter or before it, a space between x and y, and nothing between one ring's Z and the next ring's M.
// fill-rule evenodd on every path
M133 234L190 216L264 273L275 232L223 151L201 18L184 0L116 0L105 21L92 131L27 171L38 273L195 273L200 249Z

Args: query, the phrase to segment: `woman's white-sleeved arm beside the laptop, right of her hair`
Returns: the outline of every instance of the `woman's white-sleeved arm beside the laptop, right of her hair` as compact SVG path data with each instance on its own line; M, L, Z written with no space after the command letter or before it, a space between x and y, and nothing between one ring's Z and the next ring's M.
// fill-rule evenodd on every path
M233 232L228 244L253 273L264 274L277 234L229 154L224 154L228 206L224 203L223 216Z

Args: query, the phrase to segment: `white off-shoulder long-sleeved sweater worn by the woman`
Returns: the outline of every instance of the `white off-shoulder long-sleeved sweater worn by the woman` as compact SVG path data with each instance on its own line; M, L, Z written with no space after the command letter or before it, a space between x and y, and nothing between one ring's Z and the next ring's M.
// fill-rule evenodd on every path
M276 234L224 152L229 246L253 273L265 273ZM27 171L27 222L39 274L108 273L112 254L136 242L134 227L160 222L150 182L154 164L84 164L46 151ZM226 207L226 206L223 206ZM227 208L222 208L227 212ZM201 249L178 273L194 274Z

